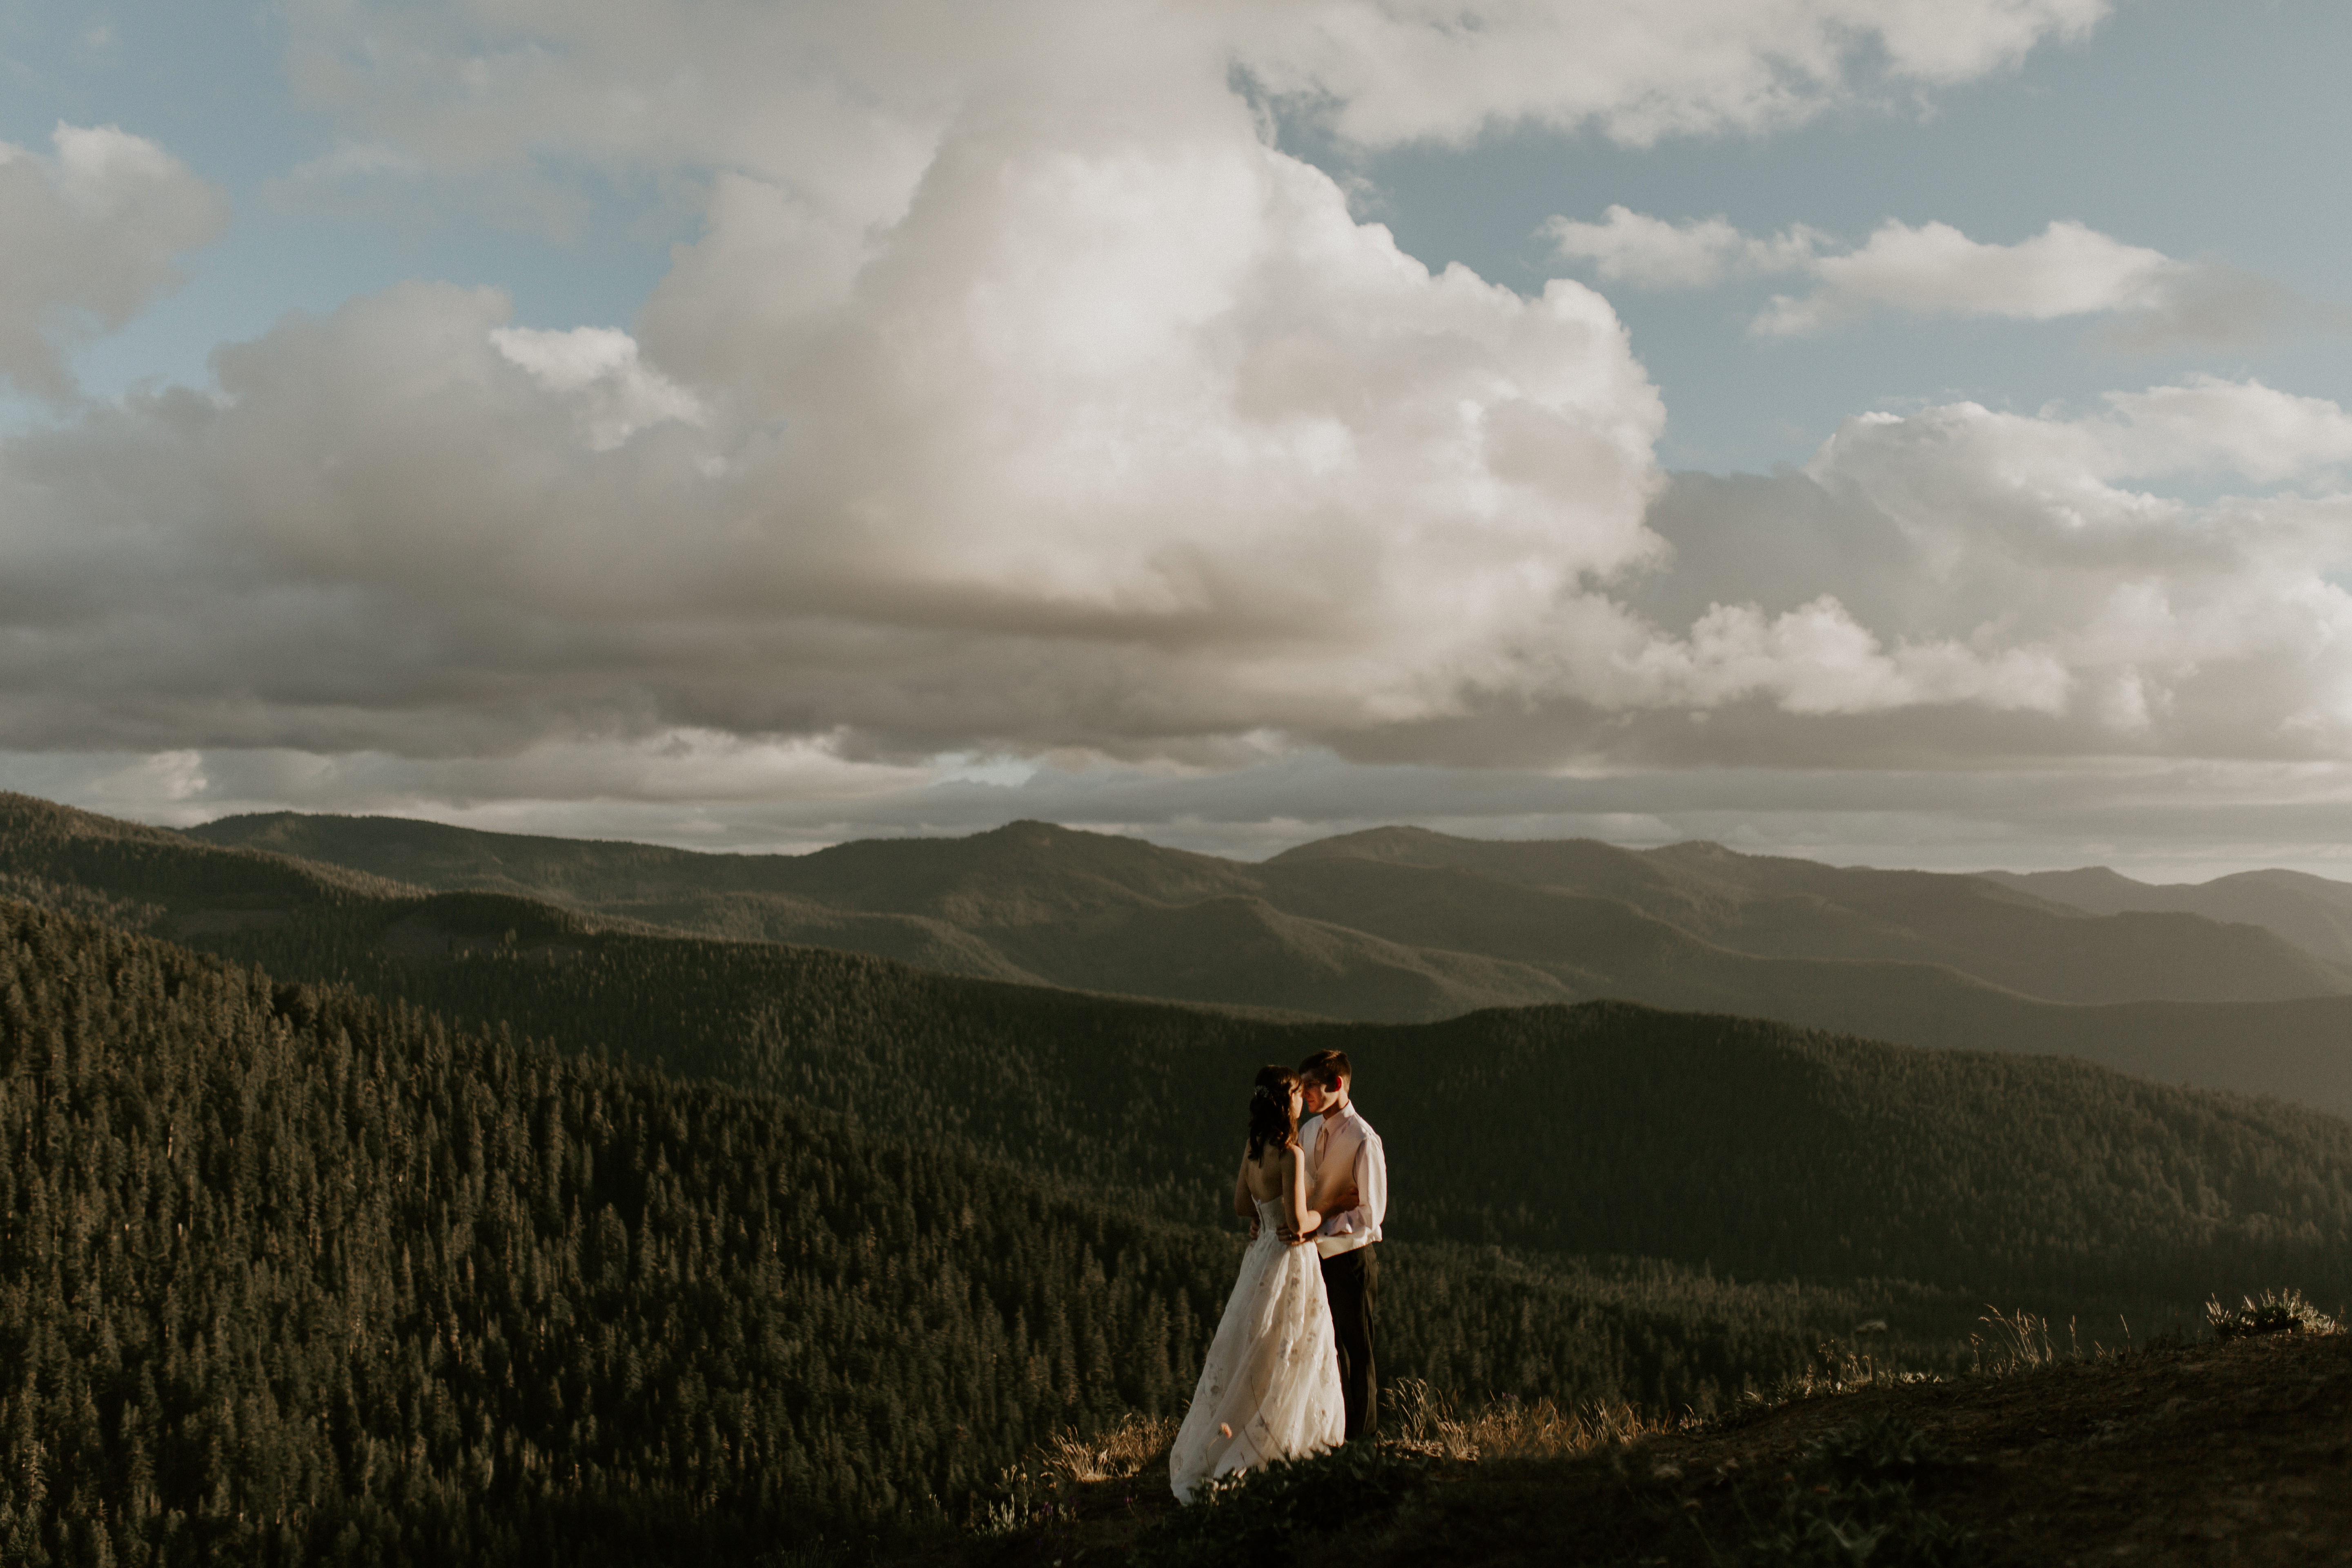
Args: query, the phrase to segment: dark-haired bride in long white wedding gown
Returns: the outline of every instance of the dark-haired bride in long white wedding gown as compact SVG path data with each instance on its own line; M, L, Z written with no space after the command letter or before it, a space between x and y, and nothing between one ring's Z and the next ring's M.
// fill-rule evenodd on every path
M1242 1276L1169 1453L1169 1483L1181 1502L1211 1476L1322 1453L1345 1436L1338 1345L1312 1244L1322 1215L1308 1208L1298 1103L1296 1072L1258 1070L1249 1150L1232 1180L1232 1211L1256 1220L1256 1239L1242 1253Z

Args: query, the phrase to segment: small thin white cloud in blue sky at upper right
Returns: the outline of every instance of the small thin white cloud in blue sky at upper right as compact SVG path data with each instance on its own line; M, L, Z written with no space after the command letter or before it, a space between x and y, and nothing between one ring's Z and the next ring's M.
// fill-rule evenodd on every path
M1950 223L1882 223L1860 247L1830 252L1828 235L1792 226L1743 235L1724 219L1670 223L1609 207L1599 223L1545 226L1566 261L1590 261L1604 282L1710 289L1729 277L1804 275L1811 294L1776 296L1752 322L1762 336L1799 336L1872 310L2049 322L2117 317L2129 348L2246 343L2286 324L2333 324L2331 313L2279 284L2218 261L2176 261L2072 221L2016 244L1985 244Z

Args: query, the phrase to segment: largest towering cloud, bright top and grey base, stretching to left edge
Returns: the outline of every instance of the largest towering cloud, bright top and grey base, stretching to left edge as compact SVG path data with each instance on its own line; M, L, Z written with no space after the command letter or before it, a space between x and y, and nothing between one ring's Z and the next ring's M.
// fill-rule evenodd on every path
M1595 294L1432 277L1254 139L1101 158L943 172L906 266L715 414L616 334L412 284L21 437L12 733L1214 750L1508 684L1651 548L1661 409ZM1103 275L1169 223L1134 308Z

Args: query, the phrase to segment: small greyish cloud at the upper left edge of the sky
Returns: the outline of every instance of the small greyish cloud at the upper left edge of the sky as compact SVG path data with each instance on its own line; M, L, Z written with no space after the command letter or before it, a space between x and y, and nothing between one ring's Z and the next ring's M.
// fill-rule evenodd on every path
M174 259L221 233L228 200L113 125L59 125L49 143L0 143L0 376L66 397L73 346L176 284Z

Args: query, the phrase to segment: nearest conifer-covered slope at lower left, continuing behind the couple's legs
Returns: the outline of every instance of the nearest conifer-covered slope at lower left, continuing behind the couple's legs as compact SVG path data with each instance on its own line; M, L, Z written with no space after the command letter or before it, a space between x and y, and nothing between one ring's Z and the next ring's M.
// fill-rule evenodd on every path
M1240 1237L0 900L0 1556L701 1563L1190 1394ZM1715 1403L1886 1291L1392 1248L1383 1363Z

